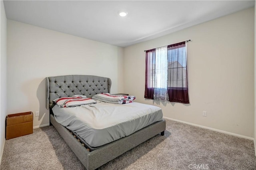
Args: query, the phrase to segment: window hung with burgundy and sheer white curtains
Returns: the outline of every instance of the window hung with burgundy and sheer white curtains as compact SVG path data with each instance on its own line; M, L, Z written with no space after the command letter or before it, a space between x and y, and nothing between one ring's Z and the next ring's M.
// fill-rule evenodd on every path
M146 51L144 97L189 103L185 42Z

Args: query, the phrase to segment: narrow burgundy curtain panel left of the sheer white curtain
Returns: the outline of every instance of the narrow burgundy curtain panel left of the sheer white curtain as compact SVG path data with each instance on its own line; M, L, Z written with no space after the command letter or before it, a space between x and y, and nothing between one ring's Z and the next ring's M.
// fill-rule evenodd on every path
M154 99L156 49L146 51L146 77L144 98Z

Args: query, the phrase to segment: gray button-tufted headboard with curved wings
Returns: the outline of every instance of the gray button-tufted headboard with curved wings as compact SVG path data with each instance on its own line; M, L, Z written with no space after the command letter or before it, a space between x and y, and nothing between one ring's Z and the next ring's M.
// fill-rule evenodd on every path
M58 97L85 95L92 98L100 93L110 93L111 79L94 75L62 75L46 77L46 109Z

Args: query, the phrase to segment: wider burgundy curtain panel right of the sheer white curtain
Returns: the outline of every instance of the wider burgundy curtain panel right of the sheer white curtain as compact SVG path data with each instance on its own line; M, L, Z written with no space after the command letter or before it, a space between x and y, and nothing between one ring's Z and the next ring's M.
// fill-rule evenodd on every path
M167 46L168 51L168 95L170 102L189 103L186 43Z

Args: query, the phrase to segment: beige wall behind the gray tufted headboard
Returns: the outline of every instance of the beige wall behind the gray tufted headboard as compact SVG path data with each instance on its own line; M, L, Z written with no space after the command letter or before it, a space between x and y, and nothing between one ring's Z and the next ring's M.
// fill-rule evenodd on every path
M123 48L8 20L7 111L40 111L34 127L49 123L45 77L98 75L123 92ZM35 116L35 115L34 115Z

